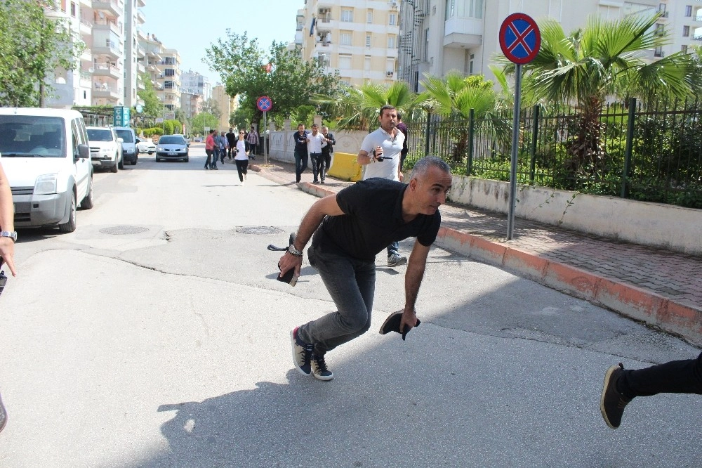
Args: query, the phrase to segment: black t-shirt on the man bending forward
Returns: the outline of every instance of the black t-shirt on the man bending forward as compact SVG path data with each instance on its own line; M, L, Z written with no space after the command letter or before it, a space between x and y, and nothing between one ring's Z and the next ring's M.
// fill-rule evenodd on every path
M434 243L441 214L419 214L409 223L402 219L402 197L407 186L387 178L369 178L341 190L336 201L345 214L326 216L314 233L315 247L373 260L390 243L417 238Z

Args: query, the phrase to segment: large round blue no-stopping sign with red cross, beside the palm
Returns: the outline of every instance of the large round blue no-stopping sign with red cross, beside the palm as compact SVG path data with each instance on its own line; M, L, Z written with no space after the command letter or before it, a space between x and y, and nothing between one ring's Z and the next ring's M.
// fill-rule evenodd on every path
M524 13L509 15L500 28L500 47L510 62L524 65L534 60L541 47L536 21Z

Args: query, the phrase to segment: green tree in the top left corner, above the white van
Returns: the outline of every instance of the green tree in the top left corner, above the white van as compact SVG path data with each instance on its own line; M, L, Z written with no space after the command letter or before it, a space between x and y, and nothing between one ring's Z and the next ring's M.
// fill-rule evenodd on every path
M44 105L56 70L73 70L84 44L63 20L48 18L53 2L0 0L0 105Z

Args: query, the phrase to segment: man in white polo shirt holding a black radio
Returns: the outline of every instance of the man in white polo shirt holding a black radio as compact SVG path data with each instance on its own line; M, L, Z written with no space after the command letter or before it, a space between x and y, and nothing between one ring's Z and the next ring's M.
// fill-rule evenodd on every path
M361 143L356 160L364 167L363 180L373 177L388 178L402 182L400 158L404 146L404 134L397 129L397 110L392 105L380 108L380 128L368 134ZM407 263L407 257L399 254L399 242L388 245L388 266Z

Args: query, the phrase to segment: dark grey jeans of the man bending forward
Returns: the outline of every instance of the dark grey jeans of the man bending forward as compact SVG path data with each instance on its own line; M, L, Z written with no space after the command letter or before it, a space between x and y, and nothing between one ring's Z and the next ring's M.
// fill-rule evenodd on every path
M337 311L305 323L298 329L298 336L303 342L314 344L317 356L324 356L326 351L350 342L371 327L376 262L336 252L319 252L314 243L307 254L310 265L319 271Z

